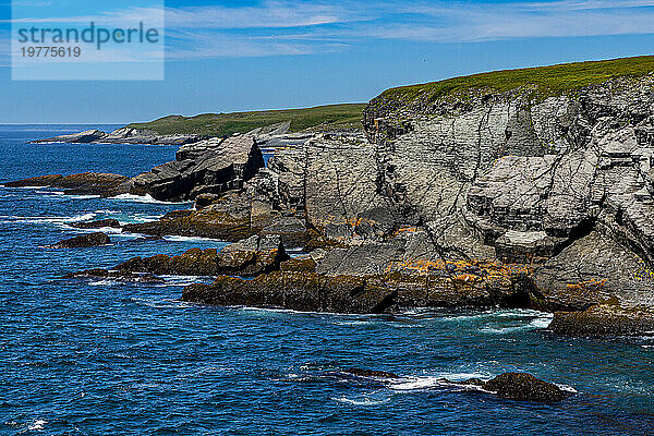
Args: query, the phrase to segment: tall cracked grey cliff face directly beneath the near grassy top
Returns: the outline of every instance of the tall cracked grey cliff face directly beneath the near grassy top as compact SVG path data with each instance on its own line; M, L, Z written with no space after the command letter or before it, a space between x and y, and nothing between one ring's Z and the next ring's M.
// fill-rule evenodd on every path
M544 99L379 97L364 124L388 198L414 220L445 234L463 226L505 262L544 263L541 289L652 304L653 89L647 75Z

